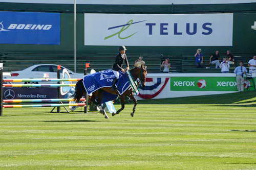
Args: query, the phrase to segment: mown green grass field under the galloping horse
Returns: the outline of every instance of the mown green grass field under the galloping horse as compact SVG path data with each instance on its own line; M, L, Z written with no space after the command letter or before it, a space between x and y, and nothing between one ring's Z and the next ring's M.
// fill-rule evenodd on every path
M255 96L140 101L135 117L126 105L108 120L8 108L0 169L256 169Z

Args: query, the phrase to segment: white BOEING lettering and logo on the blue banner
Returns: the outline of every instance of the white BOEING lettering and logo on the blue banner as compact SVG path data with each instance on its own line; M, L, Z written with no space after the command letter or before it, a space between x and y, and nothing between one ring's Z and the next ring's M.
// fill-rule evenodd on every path
M39 24L17 24L11 23L8 27L8 30L4 29L4 21L0 22L0 32L1 31L10 31L10 30L50 30L52 25L39 25Z

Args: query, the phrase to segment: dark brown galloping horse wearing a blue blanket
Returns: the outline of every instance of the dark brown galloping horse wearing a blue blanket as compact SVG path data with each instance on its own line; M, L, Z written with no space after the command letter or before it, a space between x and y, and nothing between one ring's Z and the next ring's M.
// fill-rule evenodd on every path
M137 81L137 79L139 79L140 84L142 86L145 86L146 75L147 75L146 66L141 65L141 67L134 67L134 68L130 69L130 73L131 73L131 77L133 78L134 81ZM76 88L75 88L75 93L74 93L73 97L74 97L74 101L76 101L76 102L78 102L82 98L83 95L86 96L86 94L87 94L82 81L83 80L79 80L75 86ZM102 113L105 118L109 118L108 115L106 114L106 112L104 111L104 109L101 107L103 91L111 93L111 94L116 94L116 95L119 95L119 93L117 90L114 90L111 87L103 87L103 88L100 88L100 89L96 90L95 92L93 92L93 94L91 96L90 102L95 103L98 106L98 108L100 108L100 113ZM128 88L122 95L119 95L120 101L121 101L121 108L116 113L112 113L112 116L119 114L124 109L126 96L129 96L129 98L132 99L134 102L133 112L131 113L131 116L132 117L134 116L134 113L136 110L136 105L138 104L138 102L133 94L132 88Z

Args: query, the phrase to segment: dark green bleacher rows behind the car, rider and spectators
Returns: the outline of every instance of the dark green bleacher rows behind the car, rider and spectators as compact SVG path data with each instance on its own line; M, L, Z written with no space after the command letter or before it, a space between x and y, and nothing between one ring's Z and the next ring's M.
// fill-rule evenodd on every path
M77 72L83 72L84 63L90 63L91 69L96 71L111 69L116 54L78 54ZM205 54L204 65L196 68L194 54L182 54L181 56L170 56L162 54L127 54L130 67L134 66L135 60L143 56L148 72L162 72L160 64L165 58L170 59L170 72L221 72L215 65L209 65L210 54ZM223 58L225 54L221 54ZM230 72L243 61L248 68L247 62L252 58L252 54L234 54L235 64L230 65ZM0 62L4 63L4 71L22 70L34 64L59 64L74 70L73 54L48 54L48 53L8 53L0 54Z

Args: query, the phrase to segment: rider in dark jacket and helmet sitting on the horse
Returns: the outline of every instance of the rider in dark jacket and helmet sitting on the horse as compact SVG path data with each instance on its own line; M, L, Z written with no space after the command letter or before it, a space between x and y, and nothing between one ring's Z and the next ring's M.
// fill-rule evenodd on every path
M112 70L114 72L114 75L116 76L116 78L113 80L113 84L112 84L112 89L116 90L116 86L115 84L117 83L118 79L119 79L119 70L121 70L122 72L125 72L125 70L122 68L123 66L123 60L125 61L126 64L126 70L129 70L129 62L127 60L127 56L125 54L126 52L126 48L125 46L119 46L119 54L116 55L116 59L115 59L115 63L112 66Z

